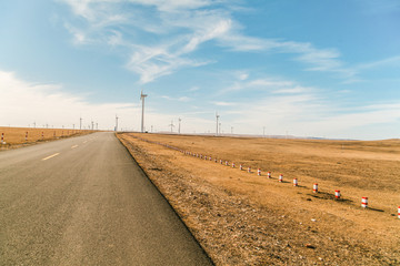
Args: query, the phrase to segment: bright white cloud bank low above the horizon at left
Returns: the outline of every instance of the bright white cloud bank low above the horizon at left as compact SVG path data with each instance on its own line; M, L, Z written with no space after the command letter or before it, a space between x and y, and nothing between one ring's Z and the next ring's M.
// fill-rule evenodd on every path
M113 129L114 115L123 117L122 125L132 126L132 113L139 114L139 108L131 103L89 103L83 96L63 92L59 84L37 84L20 80L12 72L0 71L1 109L3 124L28 126L37 125L72 127L91 121L99 123L99 129ZM139 119L139 115L138 115Z

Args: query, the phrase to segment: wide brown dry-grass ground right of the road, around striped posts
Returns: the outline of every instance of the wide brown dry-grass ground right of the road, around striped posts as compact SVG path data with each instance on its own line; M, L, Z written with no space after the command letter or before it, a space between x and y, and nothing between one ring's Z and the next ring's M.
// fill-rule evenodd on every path
M118 136L216 265L400 265L399 140Z

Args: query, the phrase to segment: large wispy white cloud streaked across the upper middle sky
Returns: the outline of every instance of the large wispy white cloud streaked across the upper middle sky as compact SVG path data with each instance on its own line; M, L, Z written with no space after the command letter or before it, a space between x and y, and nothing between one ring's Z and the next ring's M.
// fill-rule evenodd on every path
M292 53L293 59L306 64L308 71L334 72L343 79L357 74L346 66L336 49L318 49L306 42L243 34L243 27L229 9L237 4L236 1L63 1L87 22L80 23L81 27L72 27L72 22L66 24L76 43L87 44L97 40L108 45L126 47L131 51L126 65L139 74L141 83L152 82L183 68L214 62L213 59L193 58L193 52L206 42L214 42L214 45L231 52Z

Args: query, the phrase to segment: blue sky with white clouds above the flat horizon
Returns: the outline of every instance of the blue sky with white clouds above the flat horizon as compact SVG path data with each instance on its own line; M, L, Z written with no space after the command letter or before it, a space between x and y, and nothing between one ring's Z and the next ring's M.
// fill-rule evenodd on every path
M0 125L400 136L398 0L0 0ZM171 127L171 124L173 126Z

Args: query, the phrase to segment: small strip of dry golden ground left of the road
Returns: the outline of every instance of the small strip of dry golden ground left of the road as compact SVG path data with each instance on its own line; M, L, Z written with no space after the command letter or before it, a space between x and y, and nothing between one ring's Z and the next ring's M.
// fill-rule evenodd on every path
M2 144L0 141L0 150L8 150L26 145L36 144L38 142L53 141L62 137L74 135L90 134L93 131L80 131L71 129L33 129L33 127L6 127L0 126L0 136L3 134ZM27 136L28 133L28 136Z

